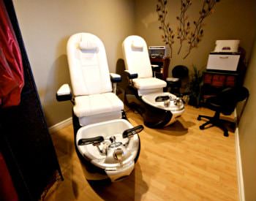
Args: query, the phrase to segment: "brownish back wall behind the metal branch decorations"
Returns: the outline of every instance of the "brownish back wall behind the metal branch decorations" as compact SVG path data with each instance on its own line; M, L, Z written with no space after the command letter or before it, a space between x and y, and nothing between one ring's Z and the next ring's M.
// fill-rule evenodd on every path
M181 1L169 0L167 3L167 19L170 26L176 31ZM192 1L192 7L187 14L190 23L199 16L199 10L202 1ZM156 10L157 0L136 0L135 1L135 33L144 37L149 45L164 45L162 42L162 30L159 30ZM192 67L195 64L198 68L206 67L208 53L214 50L217 39L240 39L241 47L247 52L247 58L252 49L252 39L255 36L256 27L256 1L255 0L224 0L220 1L212 15L206 18L204 26L203 40L198 48L192 50L192 53L183 59L186 47L183 52L177 54L178 41L173 46L173 58L170 69L178 64L184 64ZM170 73L170 72L169 72Z

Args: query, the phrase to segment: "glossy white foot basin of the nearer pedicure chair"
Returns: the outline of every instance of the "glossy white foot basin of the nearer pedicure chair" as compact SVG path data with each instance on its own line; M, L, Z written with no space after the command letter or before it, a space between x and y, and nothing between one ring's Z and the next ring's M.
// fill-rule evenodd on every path
M78 130L76 135L76 146L79 153L86 160L91 162L91 164L94 164L96 167L105 170L106 175L108 175L108 178L110 178L111 181L117 181L119 178L124 178L132 172L135 166L135 159L138 157L140 149L138 134L134 134L130 138L127 147L124 145L128 142L128 138L122 137L124 130L132 128L132 124L124 119L89 124L88 126L83 126ZM95 145L78 145L78 141L82 138L98 136L102 136L105 139L104 142L99 145L99 148L103 150L107 148L108 154L106 155L102 155ZM110 146L110 137L116 138L116 146ZM121 162L113 157L113 152L116 148L122 149L124 153ZM87 175L86 178L88 178Z

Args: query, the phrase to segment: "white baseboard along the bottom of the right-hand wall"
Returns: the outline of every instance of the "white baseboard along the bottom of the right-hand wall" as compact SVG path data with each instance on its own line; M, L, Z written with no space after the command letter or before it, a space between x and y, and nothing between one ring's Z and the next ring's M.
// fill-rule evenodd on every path
M235 110L235 118L236 110ZM243 178L243 170L242 170L242 162L241 162L241 151L240 151L240 144L239 144L239 133L238 128L236 128L235 132L235 143L236 143L236 170L238 176L238 199L240 201L245 201L244 197L244 178Z

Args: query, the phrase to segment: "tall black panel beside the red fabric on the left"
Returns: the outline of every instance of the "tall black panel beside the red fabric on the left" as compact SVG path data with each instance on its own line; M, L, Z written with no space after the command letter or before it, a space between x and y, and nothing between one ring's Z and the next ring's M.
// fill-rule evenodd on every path
M0 149L20 200L39 200L62 175L12 1L0 1L4 1L18 41L25 81L20 105L0 108Z

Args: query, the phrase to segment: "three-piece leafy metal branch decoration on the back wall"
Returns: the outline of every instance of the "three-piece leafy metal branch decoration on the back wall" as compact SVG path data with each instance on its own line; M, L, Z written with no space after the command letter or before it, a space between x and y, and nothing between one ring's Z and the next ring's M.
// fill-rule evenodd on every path
M191 26L187 10L192 5L192 0L181 0L181 12L176 17L178 20L177 32L174 33L170 24L167 22L167 0L158 0L157 3L157 14L160 23L159 29L163 31L162 41L165 45L170 48L170 58L173 55L173 43L175 38L178 39L179 48L178 54L181 52L181 48L184 42L187 42L187 53L183 58L187 58L193 48L197 48L198 43L203 38L203 26L205 25L204 20L214 12L214 6L219 0L203 0L202 7L199 11L199 18L194 20Z

